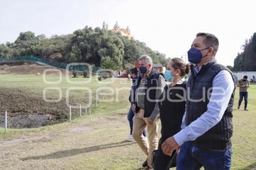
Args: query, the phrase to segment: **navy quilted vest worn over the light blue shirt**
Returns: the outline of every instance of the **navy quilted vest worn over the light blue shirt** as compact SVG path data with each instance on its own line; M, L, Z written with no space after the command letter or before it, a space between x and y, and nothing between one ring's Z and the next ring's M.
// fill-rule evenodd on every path
M222 70L228 71L235 83L233 73L225 66L220 65L216 60L211 60L205 65L202 65L198 74L194 73L194 65L191 66L191 76L187 83L187 100L186 100L186 126L195 121L205 111L207 111L207 104L209 99L207 97L208 89L212 87L214 77ZM235 86L236 87L236 86ZM211 89L210 89L211 92ZM234 102L235 89L230 97L229 104L226 111L217 125L209 129L203 135L198 137L192 143L203 149L223 150L231 147L231 136L233 134L232 124L232 109ZM205 97L203 97L205 96ZM200 102L192 102L190 99L204 99Z

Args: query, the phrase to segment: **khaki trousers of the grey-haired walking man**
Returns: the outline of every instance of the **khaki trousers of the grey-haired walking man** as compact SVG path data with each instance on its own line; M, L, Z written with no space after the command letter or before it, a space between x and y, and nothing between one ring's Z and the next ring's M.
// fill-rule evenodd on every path
M135 114L133 120L133 138L139 144L143 152L147 155L148 166L152 167L151 159L152 152L158 149L158 121L159 117L156 118L155 122L150 125L148 124L148 117L144 117L144 109L140 109L139 113ZM142 131L147 126L148 129L148 140L142 135Z

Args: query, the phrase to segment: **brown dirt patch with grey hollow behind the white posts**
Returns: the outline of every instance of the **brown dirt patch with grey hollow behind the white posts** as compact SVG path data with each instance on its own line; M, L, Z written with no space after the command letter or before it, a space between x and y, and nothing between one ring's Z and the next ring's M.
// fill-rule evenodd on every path
M38 127L52 123L66 121L69 118L69 108L66 104L66 98L62 98L60 102L46 102L42 96L42 90L31 91L27 89L0 88L0 115L4 116L7 111L11 120L15 119L22 124L10 124L13 128L23 128L23 124L27 122L26 127ZM56 96L48 96L47 99L56 99ZM76 96L70 95L70 103L86 103L87 98L77 99ZM72 109L72 117L79 116L77 109ZM83 110L84 114L84 110ZM23 115L20 117L20 115ZM35 115L35 116L34 116ZM40 116L45 115L45 116ZM27 118L28 120L24 120ZM15 122L14 121L14 122ZM1 126L1 125L0 125ZM3 127L3 126L2 126Z

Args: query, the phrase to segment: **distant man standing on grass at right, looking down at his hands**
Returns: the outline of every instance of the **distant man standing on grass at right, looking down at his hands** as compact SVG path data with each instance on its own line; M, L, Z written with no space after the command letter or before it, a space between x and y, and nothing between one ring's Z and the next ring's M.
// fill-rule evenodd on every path
M237 87L239 87L239 102L237 109L240 109L243 97L245 98L245 111L248 111L247 109L247 103L248 103L248 87L250 87L250 81L248 80L248 76L244 76L241 80L238 81Z

